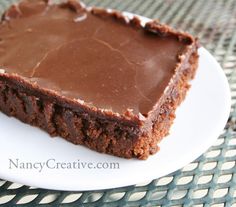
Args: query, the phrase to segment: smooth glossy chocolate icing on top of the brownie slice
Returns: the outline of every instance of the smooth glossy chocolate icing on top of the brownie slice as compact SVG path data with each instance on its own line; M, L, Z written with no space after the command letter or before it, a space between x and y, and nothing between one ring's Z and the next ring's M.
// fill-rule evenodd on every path
M24 1L0 27L0 68L101 109L146 115L186 44L94 15L79 4Z

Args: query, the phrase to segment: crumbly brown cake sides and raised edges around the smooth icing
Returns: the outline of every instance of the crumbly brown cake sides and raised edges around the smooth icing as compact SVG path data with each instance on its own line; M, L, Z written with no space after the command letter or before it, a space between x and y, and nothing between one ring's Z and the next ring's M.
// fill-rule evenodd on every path
M44 2L48 4L47 1ZM63 3L63 8L85 10L76 1ZM138 18L127 21L117 11L107 12L94 8L86 13L98 18L113 18L118 24L138 29L142 27ZM14 18L21 18L18 6L12 6L5 12L2 24ZM147 23L141 29L157 38L175 38L186 45L177 57L170 81L148 113L135 113L128 108L123 113L102 109L86 101L62 96L50 88L43 88L22 75L8 72L2 66L0 110L8 116L45 130L52 137L60 136L97 152L123 158L147 159L159 150L158 143L168 135L175 110L190 88L189 81L194 78L198 67L198 41L187 33L175 31L155 21Z

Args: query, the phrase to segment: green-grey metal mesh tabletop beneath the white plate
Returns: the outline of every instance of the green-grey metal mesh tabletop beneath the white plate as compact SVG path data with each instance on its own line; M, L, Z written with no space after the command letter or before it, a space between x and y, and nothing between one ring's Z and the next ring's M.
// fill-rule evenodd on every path
M0 0L2 13L17 0ZM236 0L84 0L89 6L159 19L198 36L229 80L232 108L215 144L197 160L149 183L92 192L37 189L0 180L0 206L235 206Z

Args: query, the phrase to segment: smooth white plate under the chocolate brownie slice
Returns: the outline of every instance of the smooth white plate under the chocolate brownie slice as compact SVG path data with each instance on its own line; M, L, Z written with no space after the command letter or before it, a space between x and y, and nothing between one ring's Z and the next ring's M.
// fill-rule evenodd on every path
M144 19L145 20L145 19ZM56 190L98 190L151 181L187 165L217 139L230 112L230 90L223 70L204 48L186 100L177 110L171 133L161 150L146 161L126 160L52 139L40 129L0 113L0 178ZM20 169L11 164L57 162L118 163L119 169ZM50 164L51 163L51 164ZM53 167L52 161L50 166ZM72 163L73 164L73 163ZM81 164L81 163L80 163ZM104 164L104 167L106 164ZM28 166L30 167L30 166Z

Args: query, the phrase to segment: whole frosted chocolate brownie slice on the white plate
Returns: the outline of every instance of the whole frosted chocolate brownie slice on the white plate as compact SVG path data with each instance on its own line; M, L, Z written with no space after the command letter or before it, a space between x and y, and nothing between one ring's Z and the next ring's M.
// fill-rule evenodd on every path
M191 35L155 21L21 1L0 25L0 110L74 144L146 159L185 98L197 49Z

